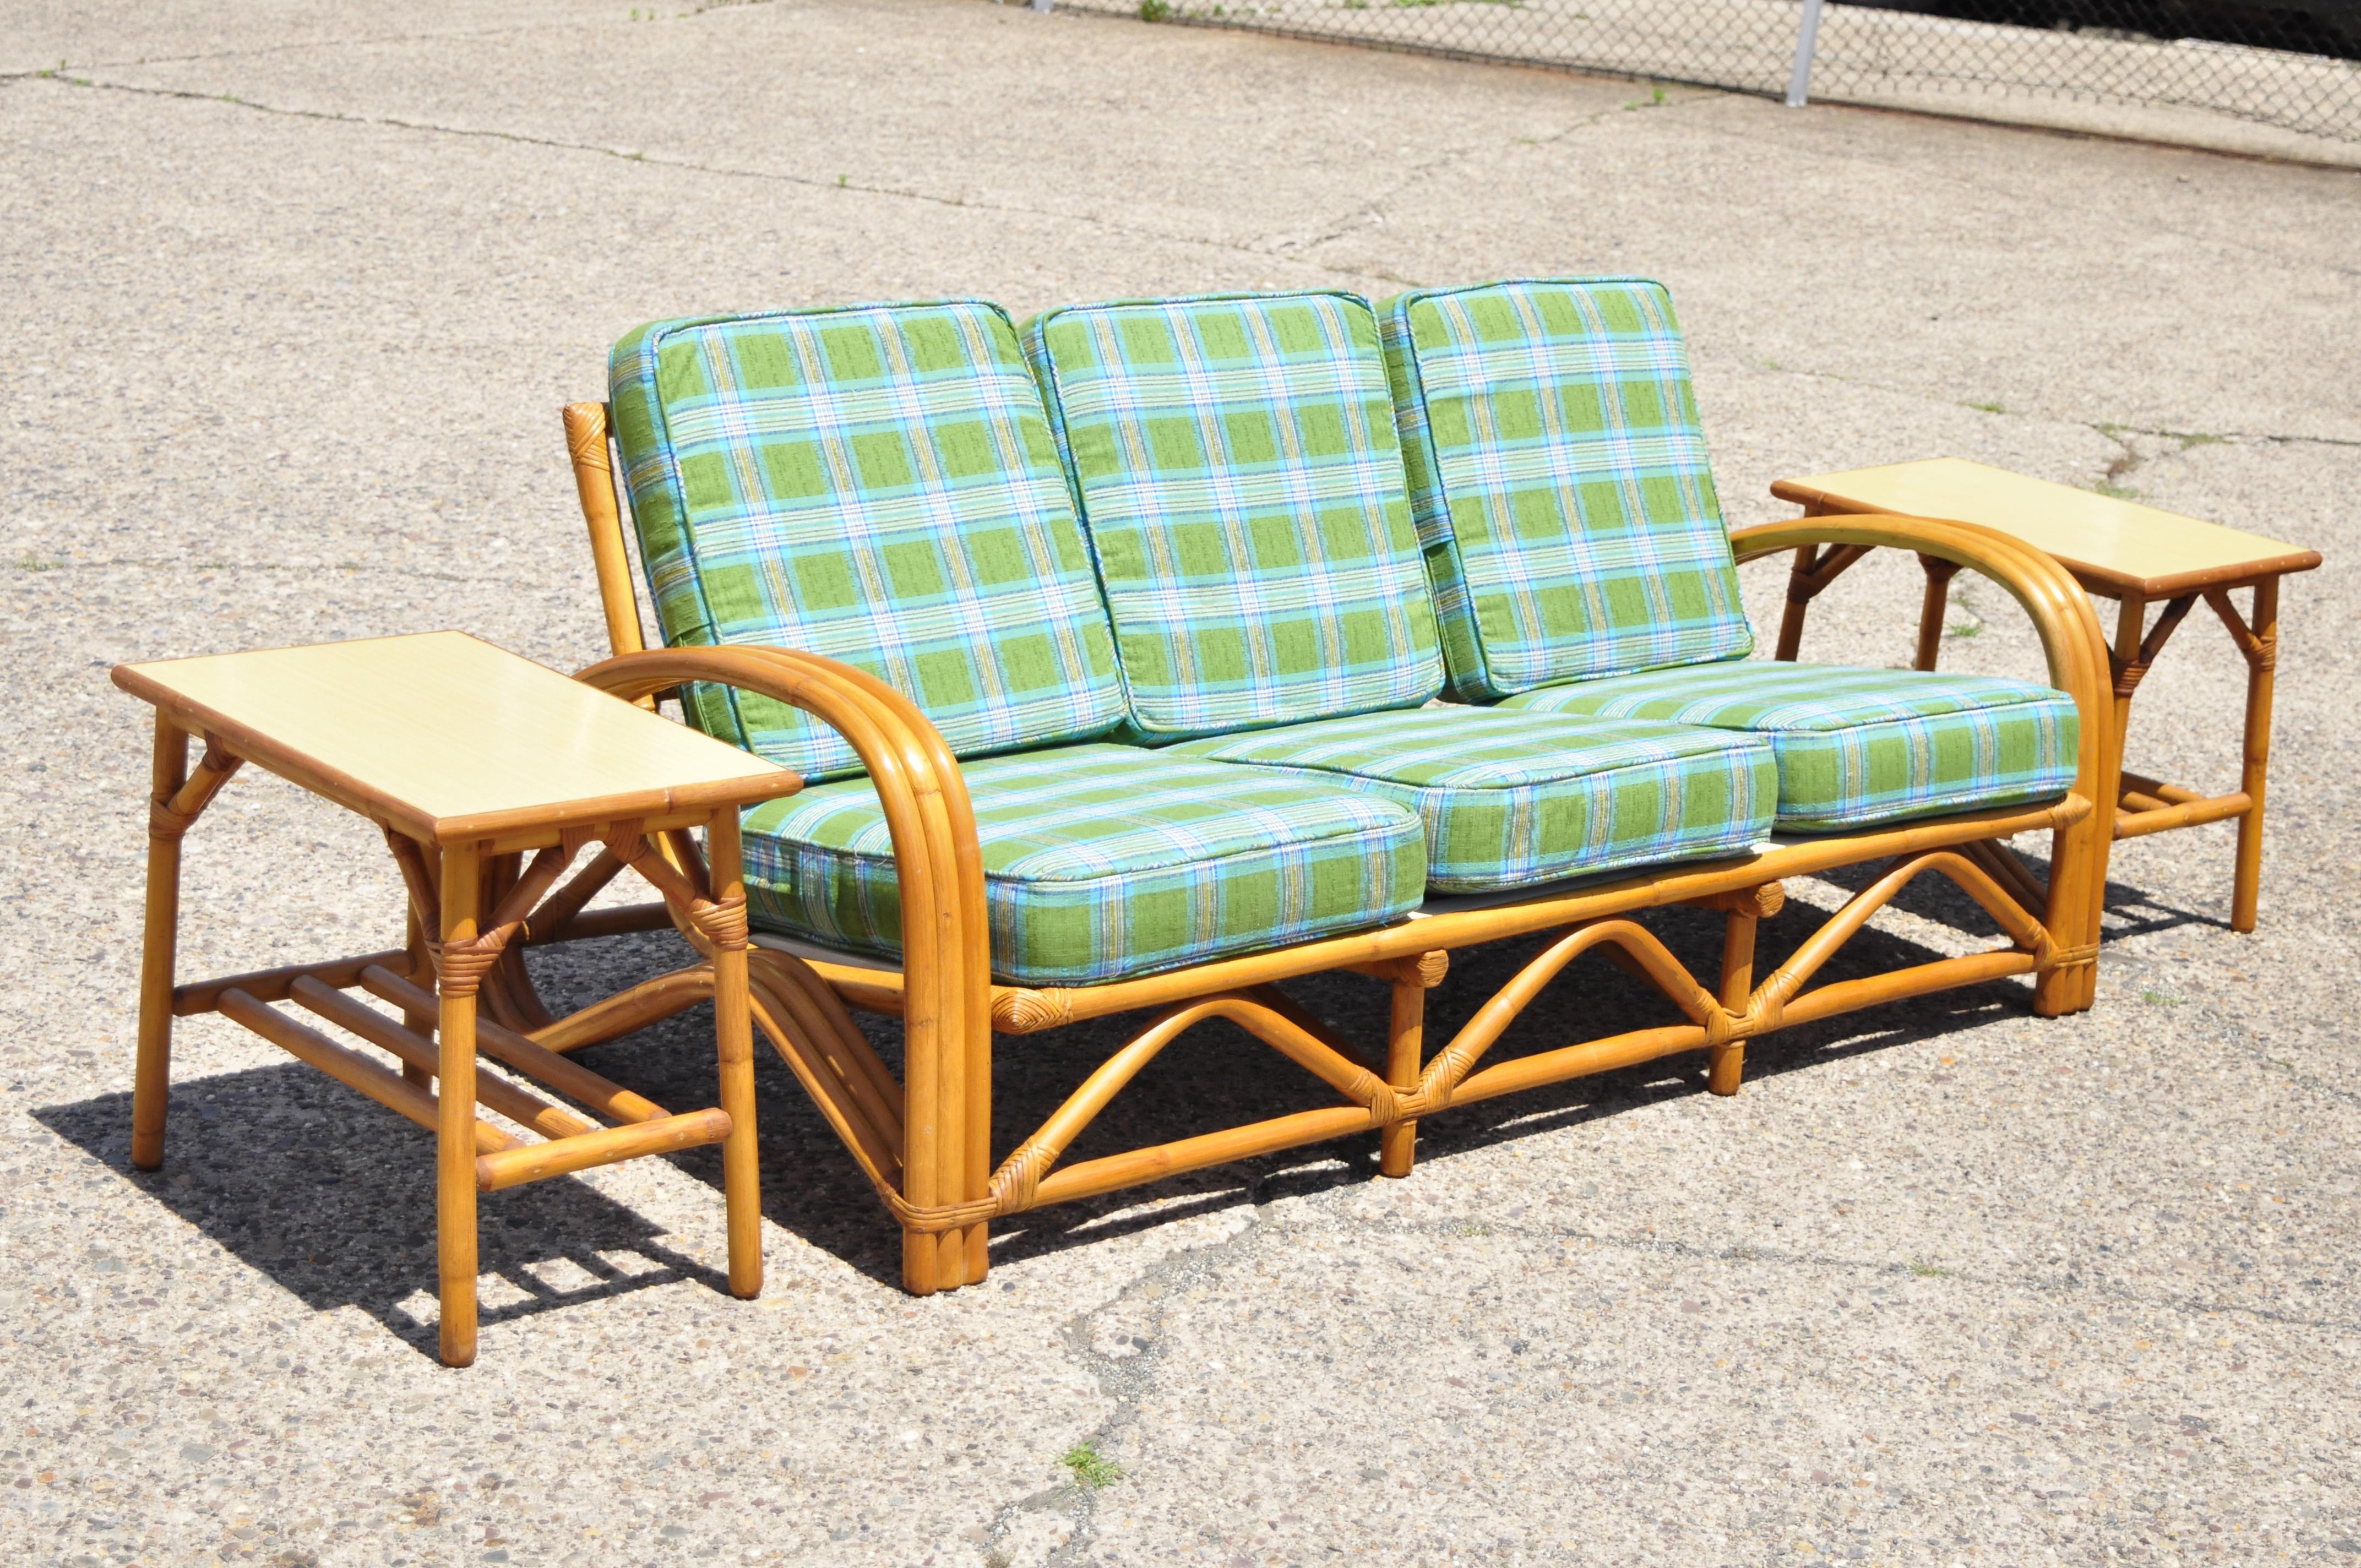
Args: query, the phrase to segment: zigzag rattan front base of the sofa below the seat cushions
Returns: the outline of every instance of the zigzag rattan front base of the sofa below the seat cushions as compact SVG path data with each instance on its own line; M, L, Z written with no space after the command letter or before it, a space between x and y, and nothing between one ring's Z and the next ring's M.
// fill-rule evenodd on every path
M739 666L737 675L741 678L758 678L758 668L748 666L760 666L770 656L767 649L725 649L725 654L727 664ZM661 678L678 682L682 678L711 678L685 675L678 668L682 659L704 661L708 656L713 654L645 654L642 659L652 661L652 668L640 680ZM640 661L614 661L590 675L614 680L619 673L616 666L628 664ZM630 682L616 682L609 690L628 694ZM852 961L807 961L791 952L758 947L758 980L753 989L758 1023L822 1105L859 1167L876 1183L881 1200L902 1223L904 1235L911 1237L907 1254L918 1254L921 1266L933 1263L940 1268L947 1252L942 1237L973 1237L992 1219L1022 1214L1044 1204L1339 1136L1384 1133L1386 1129L1412 1124L1452 1105L1683 1051L1714 1051L1714 1086L1731 1091L1735 1089L1735 1046L1785 1023L1830 1018L1877 1001L2007 975L2045 978L2085 971L2094 961L2089 945L2056 940L2042 912L2038 907L2028 909L2021 902L2028 888L2038 888L2030 874L2012 878L1993 867L2002 864L1997 857L2004 852L2002 841L2007 836L2038 829L2066 831L2089 822L2089 801L2073 793L2040 808L1971 812L1844 838L1780 843L1738 862L1631 876L1608 886L1577 888L1492 909L1445 909L1384 930L1204 963L1171 975L1147 975L1131 982L1079 989L992 987L987 1004L989 1020L1006 1032L1029 1032L1051 1027L1053 1023L1098 1018L1140 1006L1159 1006L1164 1011L1091 1072L1067 1103L982 1183L956 1193L949 1202L926 1202L911 1193L914 1183L907 1181L907 1159L897 1159L895 1148L909 1141L909 1115L916 1096L907 1091L897 1093L902 1086L890 1082L883 1065L866 1048L866 1041L850 1025L850 1018L843 1015L845 1001L855 1006L883 1004L881 1011L902 1013L904 1023L909 1023L909 987L918 978L916 966L895 973ZM888 822L892 822L892 815L888 815ZM923 822L911 827L923 831ZM1747 985L1742 994L1728 992L1733 973L1750 975L1752 926L1764 919L1764 912L1778 912L1783 904L1778 881L1768 876L1771 871L1801 876L1877 857L1894 857L1896 864L1872 881L1870 888L1853 895L1844 909L1830 916L1816 937L1797 947L1759 985ZM2012 947L1804 989L1816 971L1877 909L1910 878L1927 871L1936 871L1967 890L2002 926ZM1665 904L1721 909L1733 928L1742 926L1742 933L1733 930L1733 937L1742 935L1745 956L1735 963L1726 959L1721 987L1707 987L1690 978L1662 942L1629 919L1631 914ZM1459 1039L1419 1063L1414 1079L1400 1084L1386 1082L1388 1074L1374 1072L1372 1060L1346 1041L1336 1041L1334 1037L1322 1039L1325 1027L1317 1027L1317 1020L1303 1018L1296 1004L1270 989L1273 980L1346 968L1386 980L1395 987L1400 1004L1405 992L1424 997L1424 989L1443 978L1452 947L1551 928L1561 928L1568 935L1535 959L1523 975L1511 980L1471 1020ZM1662 989L1683 1011L1686 1020L1598 1041L1577 1041L1511 1063L1480 1065L1483 1051L1530 1006L1549 980L1575 956L1598 945L1613 945L1629 954L1639 973ZM940 994L937 989L935 997ZM822 997L833 1006L824 1011L817 1004ZM1407 1027L1417 1027L1419 1008L1398 1006L1395 1032L1405 1027L1405 1013ZM1348 1103L1251 1122L1166 1145L1105 1155L1072 1167L1058 1164L1081 1129L1157 1053L1209 1018L1237 1023L1322 1079ZM1726 1070L1724 1058L1719 1058L1724 1051L1731 1053ZM975 1082L975 1091L985 1091L982 1079ZM956 1261L963 1263L963 1252Z

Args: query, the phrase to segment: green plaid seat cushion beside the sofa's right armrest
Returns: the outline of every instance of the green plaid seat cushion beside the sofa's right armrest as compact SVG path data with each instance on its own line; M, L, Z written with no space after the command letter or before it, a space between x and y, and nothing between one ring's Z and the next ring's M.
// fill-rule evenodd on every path
M1768 659L1582 680L1502 708L1768 734L1778 824L1801 831L2056 801L2080 741L2073 701L2049 687Z

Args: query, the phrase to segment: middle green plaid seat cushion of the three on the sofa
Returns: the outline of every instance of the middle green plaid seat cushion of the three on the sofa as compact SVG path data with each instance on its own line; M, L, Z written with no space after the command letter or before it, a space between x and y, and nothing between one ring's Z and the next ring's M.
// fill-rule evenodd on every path
M1499 708L1360 713L1173 753L1320 777L1407 805L1426 822L1435 893L1742 855L1771 834L1778 798L1771 746L1754 737Z

